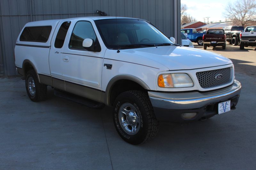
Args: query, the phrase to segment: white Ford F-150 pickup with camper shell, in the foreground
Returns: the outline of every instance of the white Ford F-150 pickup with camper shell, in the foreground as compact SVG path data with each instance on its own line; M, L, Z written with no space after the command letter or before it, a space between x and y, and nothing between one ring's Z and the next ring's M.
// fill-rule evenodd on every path
M112 106L118 134L140 144L156 136L159 121L205 120L238 102L241 84L228 58L170 39L137 18L29 22L15 64L32 101L46 99L51 86L89 107Z

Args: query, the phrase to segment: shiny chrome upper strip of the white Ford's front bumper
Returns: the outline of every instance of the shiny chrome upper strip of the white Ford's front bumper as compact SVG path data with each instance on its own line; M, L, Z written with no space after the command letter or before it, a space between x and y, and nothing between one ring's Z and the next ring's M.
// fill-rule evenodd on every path
M225 96L228 96L232 93L235 93L235 92L239 91L241 88L242 88L242 86L240 84L240 86L237 89L235 89L231 92L227 92L227 93L219 94L219 95L215 95L215 96L210 96L210 97L197 98L197 99L174 100L174 99L160 99L160 98L155 98L155 97L149 97L149 98L154 99L154 100L161 100L161 101L176 103L176 104L192 104L192 103L198 103L198 102L202 102L202 101L217 99L217 98L220 98L220 97L225 97Z

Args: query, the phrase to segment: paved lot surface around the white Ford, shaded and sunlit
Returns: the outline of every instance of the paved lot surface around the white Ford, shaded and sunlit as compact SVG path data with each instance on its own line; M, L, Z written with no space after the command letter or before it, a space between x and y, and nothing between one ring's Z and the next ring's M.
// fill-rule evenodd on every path
M195 48L203 48L195 45ZM19 77L0 78L0 169L255 169L256 50L209 51L235 64L243 89L236 110L204 122L161 123L146 144L125 143L112 108L53 95L32 102Z

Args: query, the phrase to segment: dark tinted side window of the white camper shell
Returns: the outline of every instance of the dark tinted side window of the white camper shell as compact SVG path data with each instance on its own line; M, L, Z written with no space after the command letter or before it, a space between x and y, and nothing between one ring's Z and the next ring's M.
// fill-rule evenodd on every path
M47 42L52 26L28 26L20 35L20 41Z

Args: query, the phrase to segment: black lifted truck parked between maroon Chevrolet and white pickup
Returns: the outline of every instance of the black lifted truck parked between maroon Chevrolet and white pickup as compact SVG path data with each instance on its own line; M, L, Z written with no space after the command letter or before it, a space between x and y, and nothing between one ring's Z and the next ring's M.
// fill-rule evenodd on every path
M223 28L226 34L227 41L229 44L237 46L240 43L239 34L244 31L243 26L228 26Z

